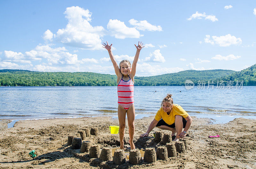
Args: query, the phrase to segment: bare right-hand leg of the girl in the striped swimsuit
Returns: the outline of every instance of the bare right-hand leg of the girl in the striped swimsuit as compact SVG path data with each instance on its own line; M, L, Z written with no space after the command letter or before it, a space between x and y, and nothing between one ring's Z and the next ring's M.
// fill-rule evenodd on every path
M134 119L135 119L135 108L134 108L134 105L132 105L127 110L127 120L128 120L128 126L129 126L129 136L130 136L129 143L131 146L131 150L135 149L135 145L133 143L133 135L135 131Z

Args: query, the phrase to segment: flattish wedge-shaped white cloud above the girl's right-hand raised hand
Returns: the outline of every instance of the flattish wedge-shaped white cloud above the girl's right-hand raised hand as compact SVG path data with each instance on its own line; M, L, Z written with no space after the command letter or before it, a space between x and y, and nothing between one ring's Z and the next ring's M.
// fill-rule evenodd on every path
M162 31L161 26L155 26L151 25L148 23L146 20L135 20L135 19L130 19L129 23L134 26L136 29L141 30L141 31Z

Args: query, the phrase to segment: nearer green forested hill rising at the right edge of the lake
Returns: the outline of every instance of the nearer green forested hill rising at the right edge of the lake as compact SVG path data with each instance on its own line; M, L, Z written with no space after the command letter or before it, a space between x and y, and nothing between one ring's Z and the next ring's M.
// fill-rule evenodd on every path
M239 82L244 81L245 86L256 86L256 64L228 76L217 78L217 80L223 80L224 82L229 80Z

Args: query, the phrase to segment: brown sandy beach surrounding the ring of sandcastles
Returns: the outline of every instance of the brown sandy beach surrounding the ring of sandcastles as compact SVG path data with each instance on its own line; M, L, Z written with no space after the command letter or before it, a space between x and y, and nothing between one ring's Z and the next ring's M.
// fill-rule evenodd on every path
M140 138L154 116L135 120L134 143L136 148L157 148L163 145L155 141L154 131L148 137ZM118 125L111 117L84 117L74 119L45 119L18 121L7 129L8 120L0 121L0 168L256 168L256 120L238 118L226 124L212 124L210 119L193 117L193 123L186 136L188 150L185 154L155 163L142 161L131 165L102 162L89 158L88 153L72 150L67 146L68 135L80 129L97 127L99 136L86 140L100 144L100 147L118 147L119 136L110 134L109 125ZM168 131L162 130L164 133ZM209 136L220 137L209 138ZM125 128L125 148L129 150L128 125ZM36 158L28 155L36 151Z

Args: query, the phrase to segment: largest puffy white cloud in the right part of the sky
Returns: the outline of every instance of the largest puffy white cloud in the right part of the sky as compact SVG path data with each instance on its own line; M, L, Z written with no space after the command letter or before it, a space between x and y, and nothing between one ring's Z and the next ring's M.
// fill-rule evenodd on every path
M222 47L227 47L230 45L241 44L241 38L236 38L235 36L231 36L231 34L227 34L225 36L212 36L212 40L210 39L210 35L205 35L204 38L205 43L211 43L212 45L217 44Z

